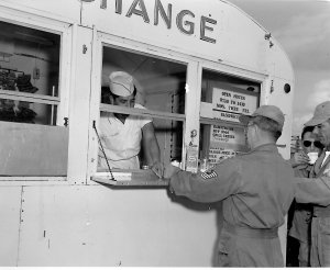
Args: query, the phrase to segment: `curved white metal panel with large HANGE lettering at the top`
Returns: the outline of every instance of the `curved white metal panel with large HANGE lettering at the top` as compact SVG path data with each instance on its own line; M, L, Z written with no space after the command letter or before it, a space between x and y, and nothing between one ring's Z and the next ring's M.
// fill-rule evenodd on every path
M81 13L82 25L95 25L99 31L112 33L129 40L140 41L199 56L212 61L220 61L253 70L266 70L265 54L270 49L265 41L265 30L256 24L241 10L229 2L220 0L144 0L145 11L136 1L124 0L120 12L117 1L108 1L107 8L100 8L100 0L85 3ZM118 1L120 2L120 1ZM161 2L167 12L172 5L170 26L165 20L156 18L156 2ZM141 10L130 12L131 10ZM182 11L190 13L184 16L184 29L194 29L193 34L183 33L178 26ZM169 13L169 12L167 12ZM169 15L168 15L169 16ZM215 43L201 38L201 18L215 20L216 23L206 23L205 35L215 40ZM148 21L146 21L148 19Z

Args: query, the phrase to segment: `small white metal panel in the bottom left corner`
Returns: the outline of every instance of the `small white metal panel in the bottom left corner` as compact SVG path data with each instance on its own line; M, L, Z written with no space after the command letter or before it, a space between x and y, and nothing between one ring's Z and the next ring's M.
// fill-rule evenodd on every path
M21 187L0 187L0 267L16 266Z

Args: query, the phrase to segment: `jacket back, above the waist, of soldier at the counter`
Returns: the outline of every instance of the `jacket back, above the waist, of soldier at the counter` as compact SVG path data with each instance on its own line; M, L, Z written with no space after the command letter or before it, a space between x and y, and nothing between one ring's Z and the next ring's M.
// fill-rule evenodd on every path
M251 228L277 228L294 199L294 172L275 145L262 145L232 161L240 164L241 187L223 201L224 220ZM262 203L261 203L262 202ZM227 204L235 207L226 207ZM237 212L235 218L231 213Z

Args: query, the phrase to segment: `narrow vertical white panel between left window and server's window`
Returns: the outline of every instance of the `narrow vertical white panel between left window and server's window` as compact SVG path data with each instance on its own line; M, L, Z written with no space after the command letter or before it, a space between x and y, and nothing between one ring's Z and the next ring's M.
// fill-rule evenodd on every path
M86 182L88 125L91 88L92 32L77 26L74 30L73 69L69 100L69 181ZM90 130L91 126L90 126Z

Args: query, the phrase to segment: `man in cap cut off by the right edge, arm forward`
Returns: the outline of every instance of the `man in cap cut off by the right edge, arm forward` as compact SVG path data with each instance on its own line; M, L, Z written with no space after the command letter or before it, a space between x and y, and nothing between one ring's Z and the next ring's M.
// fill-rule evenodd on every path
M296 201L315 204L311 220L311 267L330 267L330 101L317 105L312 119L305 125L314 126L312 133L324 145L324 149L315 162L309 179L298 179Z

